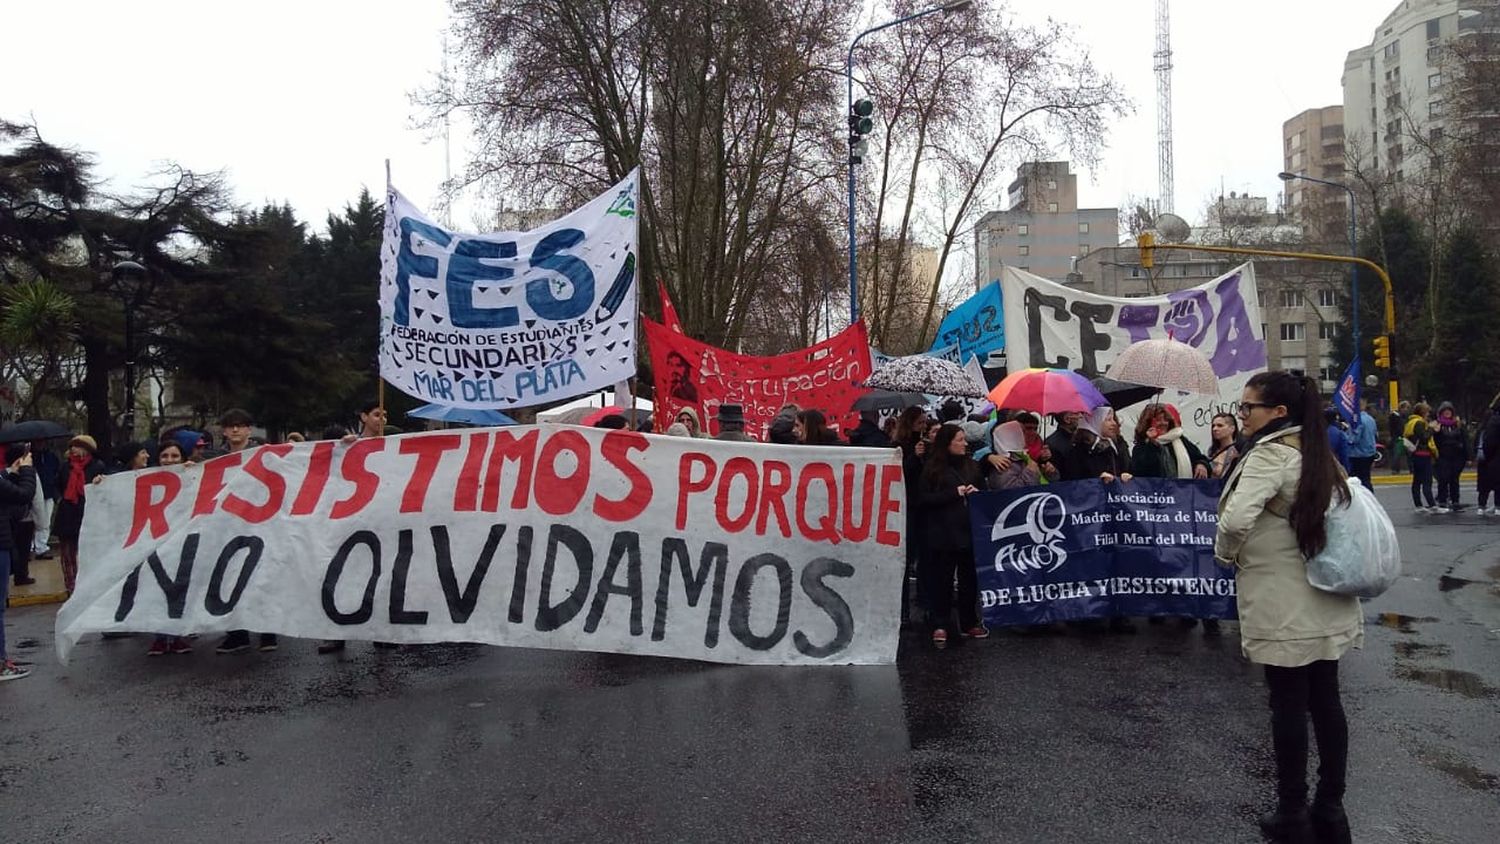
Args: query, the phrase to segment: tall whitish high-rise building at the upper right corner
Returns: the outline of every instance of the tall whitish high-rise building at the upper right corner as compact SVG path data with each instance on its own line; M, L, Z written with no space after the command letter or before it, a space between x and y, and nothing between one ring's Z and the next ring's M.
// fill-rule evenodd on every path
M1422 139L1440 138L1448 118L1443 48L1470 16L1467 4L1402 0L1344 60L1344 138L1358 169L1395 181L1424 169Z

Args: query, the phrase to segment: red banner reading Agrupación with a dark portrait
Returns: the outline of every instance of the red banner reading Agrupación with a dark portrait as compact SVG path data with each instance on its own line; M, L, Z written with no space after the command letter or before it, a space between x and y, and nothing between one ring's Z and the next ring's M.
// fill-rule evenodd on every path
M776 357L741 355L674 333L660 322L642 321L651 370L656 376L657 426L672 424L682 408L693 408L704 429L718 433L718 406L741 405L746 432L765 441L766 427L786 403L816 408L830 426L852 430L856 387L870 376L870 342L864 321L801 351Z

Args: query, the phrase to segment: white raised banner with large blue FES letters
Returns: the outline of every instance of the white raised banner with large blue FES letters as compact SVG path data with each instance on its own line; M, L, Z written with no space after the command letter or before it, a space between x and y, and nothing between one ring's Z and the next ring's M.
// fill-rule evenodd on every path
M636 373L636 174L532 231L462 234L394 187L380 372L452 408L572 399Z

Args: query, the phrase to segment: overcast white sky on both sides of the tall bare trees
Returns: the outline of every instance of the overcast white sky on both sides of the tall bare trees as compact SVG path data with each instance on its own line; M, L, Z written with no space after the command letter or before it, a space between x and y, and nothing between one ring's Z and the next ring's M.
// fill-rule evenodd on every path
M1274 196L1281 123L1341 102L1346 52L1368 43L1394 6L1178 0L1178 213L1198 220L1221 186ZM1102 165L1080 180L1080 201L1155 196L1154 0L1012 7L1074 24L1136 100L1136 115L1110 129ZM4 21L0 115L34 115L48 139L96 153L114 189L171 159L225 169L238 201L290 201L321 228L362 186L381 187L390 157L412 201L430 207L438 195L442 142L412 126L408 93L441 66L444 0L50 0L6 3ZM465 154L454 136L454 169Z

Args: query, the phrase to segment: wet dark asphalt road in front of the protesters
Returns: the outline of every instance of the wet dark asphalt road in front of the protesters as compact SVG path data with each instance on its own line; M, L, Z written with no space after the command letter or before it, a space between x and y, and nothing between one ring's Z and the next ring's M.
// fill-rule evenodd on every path
M1407 577L1344 660L1354 840L1496 841L1500 519L1380 496ZM54 612L8 613L36 673L0 685L6 844L1233 843L1272 799L1233 625L914 639L848 669L207 637L147 660L90 636L63 669Z

